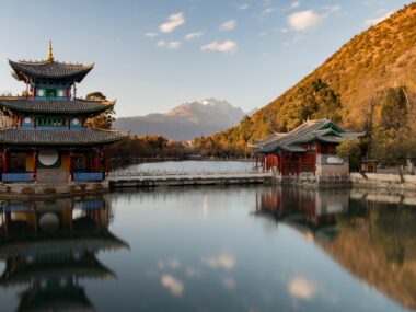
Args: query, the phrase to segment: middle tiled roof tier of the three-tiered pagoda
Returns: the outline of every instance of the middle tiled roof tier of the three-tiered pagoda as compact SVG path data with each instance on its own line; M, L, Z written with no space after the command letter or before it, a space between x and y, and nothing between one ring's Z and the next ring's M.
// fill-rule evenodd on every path
M0 107L21 113L91 114L113 107L115 102L90 100L34 100L21 96L0 96Z

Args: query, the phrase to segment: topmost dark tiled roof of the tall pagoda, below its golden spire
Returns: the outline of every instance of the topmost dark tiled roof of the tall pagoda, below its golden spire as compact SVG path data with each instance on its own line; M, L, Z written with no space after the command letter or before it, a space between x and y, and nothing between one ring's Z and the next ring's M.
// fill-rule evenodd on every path
M70 79L80 83L94 68L94 65L66 63L55 60L43 61L12 61L9 65L15 77L21 81L35 81L36 79Z

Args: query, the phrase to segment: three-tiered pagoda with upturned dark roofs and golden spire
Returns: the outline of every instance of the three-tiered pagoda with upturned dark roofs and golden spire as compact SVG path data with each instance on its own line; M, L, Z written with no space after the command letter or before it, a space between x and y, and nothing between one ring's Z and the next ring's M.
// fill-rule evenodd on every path
M0 130L1 181L104 181L107 146L123 136L85 126L88 118L115 104L77 99L76 84L94 66L56 61L50 43L46 60L9 63L26 91L23 96L0 97L0 108L9 117Z

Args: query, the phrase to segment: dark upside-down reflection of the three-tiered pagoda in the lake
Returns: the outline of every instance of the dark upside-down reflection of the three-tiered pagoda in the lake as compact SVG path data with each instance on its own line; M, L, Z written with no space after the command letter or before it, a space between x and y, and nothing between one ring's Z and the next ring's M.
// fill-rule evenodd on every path
M128 247L108 231L109 216L103 198L5 204L0 286L27 286L19 311L94 310L80 280L115 278L95 254Z

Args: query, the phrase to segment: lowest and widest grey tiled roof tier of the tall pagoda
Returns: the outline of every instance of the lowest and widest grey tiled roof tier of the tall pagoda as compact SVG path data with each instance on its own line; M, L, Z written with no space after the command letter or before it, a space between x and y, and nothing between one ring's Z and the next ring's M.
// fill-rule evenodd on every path
M0 143L25 146L89 146L105 145L123 140L126 137L113 130L102 129L50 129L8 128L0 130Z

